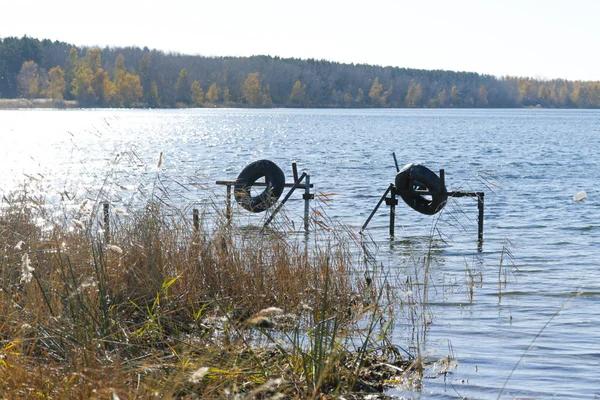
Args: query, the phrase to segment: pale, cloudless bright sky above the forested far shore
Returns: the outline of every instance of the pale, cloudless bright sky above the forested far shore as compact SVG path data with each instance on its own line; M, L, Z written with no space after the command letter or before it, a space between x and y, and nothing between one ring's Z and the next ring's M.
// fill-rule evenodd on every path
M0 37L600 80L598 0L0 0Z

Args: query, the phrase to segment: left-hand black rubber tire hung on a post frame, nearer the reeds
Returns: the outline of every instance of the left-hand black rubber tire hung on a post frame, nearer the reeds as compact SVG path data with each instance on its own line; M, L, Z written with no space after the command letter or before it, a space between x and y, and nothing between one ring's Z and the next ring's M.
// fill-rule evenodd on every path
M265 177L267 186L258 196L250 196L250 188ZM238 176L234 188L235 201L251 212L263 212L271 207L285 188L285 175L281 168L269 160L259 160L249 164Z

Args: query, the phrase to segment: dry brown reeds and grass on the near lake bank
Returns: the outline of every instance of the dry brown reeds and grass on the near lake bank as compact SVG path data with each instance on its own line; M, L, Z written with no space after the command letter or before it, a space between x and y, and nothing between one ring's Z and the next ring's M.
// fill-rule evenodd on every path
M219 214L196 231L161 204L107 234L100 205L56 217L3 199L3 398L358 398L419 367L389 340L393 285L351 235L307 243Z

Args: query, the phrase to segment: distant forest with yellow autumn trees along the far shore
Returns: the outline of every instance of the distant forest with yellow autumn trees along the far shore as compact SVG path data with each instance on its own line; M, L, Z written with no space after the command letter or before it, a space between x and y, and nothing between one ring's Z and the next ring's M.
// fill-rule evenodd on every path
M0 39L0 98L81 107L599 108L600 82Z

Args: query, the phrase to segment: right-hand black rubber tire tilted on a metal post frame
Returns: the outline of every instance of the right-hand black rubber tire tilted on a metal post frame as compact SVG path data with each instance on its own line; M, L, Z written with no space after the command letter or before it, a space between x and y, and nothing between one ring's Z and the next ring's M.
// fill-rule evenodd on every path
M431 192L431 198L415 192L425 189ZM407 164L398 172L396 191L409 207L426 215L436 214L448 201L446 186L441 179L435 172L420 164Z

